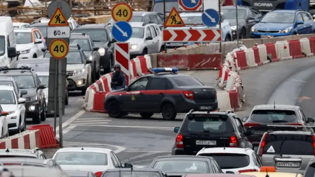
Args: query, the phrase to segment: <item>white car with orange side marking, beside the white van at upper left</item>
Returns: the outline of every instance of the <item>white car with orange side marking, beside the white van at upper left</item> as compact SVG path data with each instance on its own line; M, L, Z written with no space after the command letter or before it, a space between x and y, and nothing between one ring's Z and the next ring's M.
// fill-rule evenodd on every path
M45 47L38 29L14 29L16 38L16 51L20 53L19 59L32 59L43 55L41 48Z

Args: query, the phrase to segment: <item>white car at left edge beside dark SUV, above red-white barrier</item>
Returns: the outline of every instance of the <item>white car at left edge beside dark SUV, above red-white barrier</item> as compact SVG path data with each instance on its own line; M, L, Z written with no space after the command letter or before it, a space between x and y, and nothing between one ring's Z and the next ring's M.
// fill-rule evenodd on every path
M21 90L20 94L25 95L27 91ZM0 86L0 105L8 113L6 118L10 134L26 130L25 102L26 99L16 95L13 87Z

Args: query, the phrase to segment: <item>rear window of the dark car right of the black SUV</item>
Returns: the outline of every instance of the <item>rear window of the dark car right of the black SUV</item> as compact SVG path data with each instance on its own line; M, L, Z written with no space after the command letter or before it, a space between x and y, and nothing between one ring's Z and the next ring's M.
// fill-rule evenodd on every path
M251 119L257 122L285 123L296 121L296 115L290 110L254 110Z

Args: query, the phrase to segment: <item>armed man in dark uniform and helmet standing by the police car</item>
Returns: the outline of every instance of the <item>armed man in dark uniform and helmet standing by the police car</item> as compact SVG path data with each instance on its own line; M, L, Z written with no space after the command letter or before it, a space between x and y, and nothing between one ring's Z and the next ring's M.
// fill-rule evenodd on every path
M114 65L115 72L113 73L112 82L110 83L112 90L123 89L126 87L126 75L121 71L119 64Z

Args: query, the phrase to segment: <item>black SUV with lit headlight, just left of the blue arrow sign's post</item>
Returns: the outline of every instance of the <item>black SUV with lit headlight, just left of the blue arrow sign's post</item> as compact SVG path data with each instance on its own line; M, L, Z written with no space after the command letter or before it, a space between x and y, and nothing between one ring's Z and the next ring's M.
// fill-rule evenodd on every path
M100 68L104 74L110 73L114 65L114 42L112 37L113 25L107 24L79 24L72 33L88 34L95 46L99 47Z

